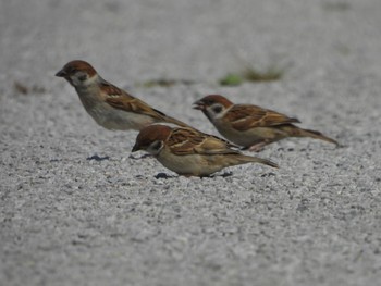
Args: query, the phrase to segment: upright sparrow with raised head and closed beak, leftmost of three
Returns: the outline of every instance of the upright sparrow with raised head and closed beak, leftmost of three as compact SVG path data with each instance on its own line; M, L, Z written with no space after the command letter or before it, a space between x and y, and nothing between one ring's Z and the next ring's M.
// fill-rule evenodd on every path
M56 76L65 78L75 88L88 114L107 129L140 130L157 122L188 126L105 80L85 61L66 63Z

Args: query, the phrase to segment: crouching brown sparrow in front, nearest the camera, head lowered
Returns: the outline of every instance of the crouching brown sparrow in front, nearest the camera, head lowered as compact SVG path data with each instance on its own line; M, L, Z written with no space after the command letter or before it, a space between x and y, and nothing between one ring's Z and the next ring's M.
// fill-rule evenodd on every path
M262 163L278 165L269 160L245 156L232 145L213 135L192 127L170 127L153 124L136 137L132 152L145 150L162 165L183 176L209 176L226 166Z

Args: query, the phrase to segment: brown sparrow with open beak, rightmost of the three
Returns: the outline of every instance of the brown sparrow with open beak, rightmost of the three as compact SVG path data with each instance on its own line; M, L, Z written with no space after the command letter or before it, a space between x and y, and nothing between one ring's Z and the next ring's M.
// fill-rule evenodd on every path
M223 137L250 151L287 137L311 137L339 146L320 132L297 127L294 123L300 122L295 117L257 105L234 104L220 95L197 100L194 109L202 111Z

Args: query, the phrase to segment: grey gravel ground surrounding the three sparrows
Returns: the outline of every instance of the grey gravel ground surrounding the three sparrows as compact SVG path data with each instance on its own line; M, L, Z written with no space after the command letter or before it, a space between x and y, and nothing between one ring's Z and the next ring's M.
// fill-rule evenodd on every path
M381 281L379 0L12 0L0 11L1 285ZM136 132L95 124L53 76L73 59L208 133L192 102L222 94L345 146L288 139L259 154L280 170L179 177L128 158ZM218 84L247 64L284 76ZM158 78L193 84L142 86Z

